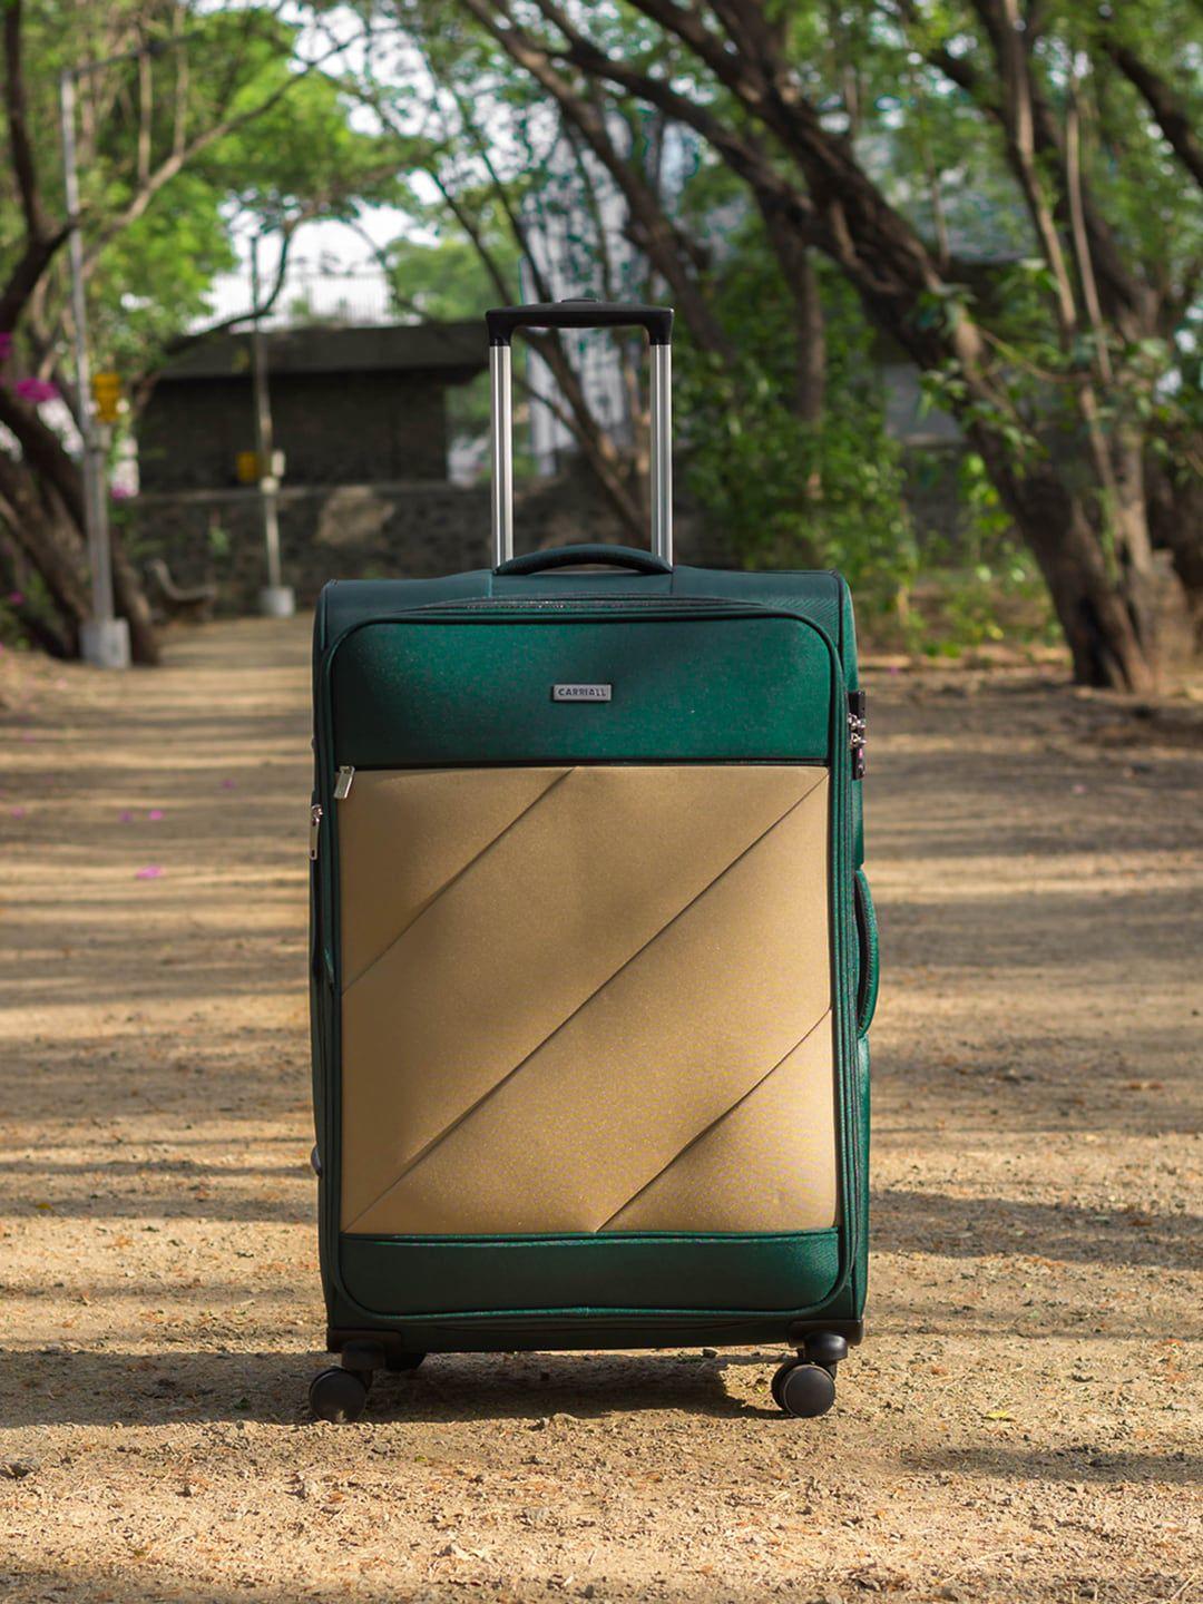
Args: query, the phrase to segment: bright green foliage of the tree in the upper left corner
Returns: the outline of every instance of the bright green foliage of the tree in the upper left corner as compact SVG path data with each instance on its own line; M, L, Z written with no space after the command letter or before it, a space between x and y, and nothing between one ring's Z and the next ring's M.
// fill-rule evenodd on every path
M170 13L157 0L112 0L88 8L80 26L80 11L71 8L67 24L59 0L26 5L30 120L51 213L61 192L59 69L128 50L138 37L168 38ZM236 265L234 212L279 226L302 210L351 218L364 202L399 196L396 141L353 127L340 58L326 69L300 71L305 19L300 8L286 21L268 5L197 5L186 18L186 48L167 48L143 67L115 63L80 80L79 165L85 252L96 257L88 279L96 366L114 366L127 379L144 372L172 338L209 314L213 277ZM186 160L143 207L146 175L178 151ZM0 176L0 199L3 279L22 241L11 173ZM132 209L138 215L128 220ZM45 297L59 319L66 294L59 257ZM51 338L55 332L61 322ZM29 329L19 335L29 342L27 358L40 359L43 337Z

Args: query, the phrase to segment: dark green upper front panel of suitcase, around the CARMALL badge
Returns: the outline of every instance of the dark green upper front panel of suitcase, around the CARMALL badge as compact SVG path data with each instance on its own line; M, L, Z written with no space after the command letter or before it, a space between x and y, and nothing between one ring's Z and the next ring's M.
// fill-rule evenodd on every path
M828 755L831 661L792 619L366 624L332 680L335 762L363 768Z

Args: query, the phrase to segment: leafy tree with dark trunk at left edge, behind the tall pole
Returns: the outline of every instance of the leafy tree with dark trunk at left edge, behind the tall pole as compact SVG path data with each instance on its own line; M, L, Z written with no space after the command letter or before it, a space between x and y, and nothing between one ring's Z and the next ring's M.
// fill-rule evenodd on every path
M58 72L132 53L80 80L80 223L98 354L119 363L135 393L144 393L164 351L204 314L213 274L233 265L223 215L231 204L269 215L287 233L306 217L391 189L391 146L385 152L351 133L327 75L354 35L346 27L334 34L319 19L305 35L284 10L292 14L281 5L221 14L180 0L5 0L0 568L27 598L22 622L53 651L77 651L90 611L80 470L38 406L53 390L75 406L63 374L69 306ZM135 658L156 661L141 582L115 534L114 595Z

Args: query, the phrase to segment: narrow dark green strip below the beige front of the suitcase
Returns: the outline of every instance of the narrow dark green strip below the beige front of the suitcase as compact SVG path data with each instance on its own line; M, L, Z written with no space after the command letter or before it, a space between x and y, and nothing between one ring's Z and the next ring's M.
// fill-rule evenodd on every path
M792 1237L353 1237L342 1283L375 1315L802 1310L839 1275L839 1233Z

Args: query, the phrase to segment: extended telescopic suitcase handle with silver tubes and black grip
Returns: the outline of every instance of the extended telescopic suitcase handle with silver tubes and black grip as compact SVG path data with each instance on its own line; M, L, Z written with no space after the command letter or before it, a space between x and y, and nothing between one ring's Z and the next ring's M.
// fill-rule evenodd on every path
M492 566L513 558L513 382L515 329L646 329L651 346L651 550L672 566L672 308L626 302L563 300L494 306L489 330L492 385ZM590 558L584 558L589 561ZM595 560L595 558L593 558Z

